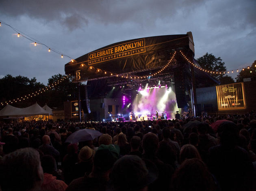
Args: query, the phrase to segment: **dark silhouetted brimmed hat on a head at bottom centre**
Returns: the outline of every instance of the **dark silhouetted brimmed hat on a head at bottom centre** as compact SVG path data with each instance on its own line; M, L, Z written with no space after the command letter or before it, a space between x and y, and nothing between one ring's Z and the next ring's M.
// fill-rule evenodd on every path
M154 168L151 168L154 167ZM126 155L118 159L110 175L111 190L132 191L142 189L158 177L156 166L147 168L138 156Z

